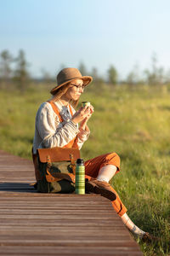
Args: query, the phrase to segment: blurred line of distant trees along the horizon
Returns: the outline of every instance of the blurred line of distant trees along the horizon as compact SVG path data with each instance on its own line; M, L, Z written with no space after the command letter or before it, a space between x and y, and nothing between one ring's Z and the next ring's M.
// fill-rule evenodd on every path
M30 64L26 61L26 53L23 49L19 50L16 57L12 56L8 49L4 49L0 53L0 84L14 83L18 89L26 90L27 84L35 79L31 77L29 72ZM144 69L142 75L139 73L139 67L136 65L133 70L127 74L126 79L120 79L118 71L114 65L111 65L107 70L107 75L102 77L97 68L93 67L88 71L84 63L81 62L78 69L82 75L90 74L94 78L96 84L149 84L151 86L170 84L170 71L165 72L163 67L159 67L156 54L151 56L150 69ZM50 74L42 69L41 82L53 81Z

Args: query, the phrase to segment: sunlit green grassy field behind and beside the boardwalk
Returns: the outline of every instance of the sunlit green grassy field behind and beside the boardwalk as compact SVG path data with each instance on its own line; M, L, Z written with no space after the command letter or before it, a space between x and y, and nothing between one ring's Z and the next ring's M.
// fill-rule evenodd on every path
M1 90L1 149L31 159L35 115L50 97L48 90L42 85L24 95ZM82 157L120 155L122 171L113 179L114 188L133 222L161 238L150 246L139 242L144 255L170 254L170 91L89 85L82 101L94 105Z

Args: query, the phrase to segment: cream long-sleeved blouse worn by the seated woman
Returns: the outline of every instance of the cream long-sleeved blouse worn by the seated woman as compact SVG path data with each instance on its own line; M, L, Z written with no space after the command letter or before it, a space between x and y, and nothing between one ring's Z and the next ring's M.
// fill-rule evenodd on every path
M63 106L59 101L54 103L64 121L59 121L59 117L54 113L50 103L42 103L36 116L33 154L37 153L37 148L62 148L76 136L78 148L81 149L83 143L88 139L90 132L78 129L78 125L71 121L69 107ZM76 112L72 107L71 110L73 114Z

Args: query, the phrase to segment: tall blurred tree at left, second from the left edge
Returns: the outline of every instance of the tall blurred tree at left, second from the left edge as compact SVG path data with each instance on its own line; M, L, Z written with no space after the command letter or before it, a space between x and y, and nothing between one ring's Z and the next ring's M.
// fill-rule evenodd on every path
M17 83L20 91L24 92L28 84L30 75L28 72L28 62L24 50L20 49L18 57L14 60L16 68L14 70L14 81Z

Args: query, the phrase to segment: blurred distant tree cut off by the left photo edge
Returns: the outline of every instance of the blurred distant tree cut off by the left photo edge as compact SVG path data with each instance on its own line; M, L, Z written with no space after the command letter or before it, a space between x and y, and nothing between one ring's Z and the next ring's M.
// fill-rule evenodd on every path
M7 49L4 49L0 54L0 78L4 82L8 82L10 79L12 70L11 63L13 61L12 55L9 54Z

